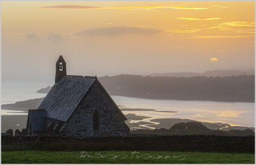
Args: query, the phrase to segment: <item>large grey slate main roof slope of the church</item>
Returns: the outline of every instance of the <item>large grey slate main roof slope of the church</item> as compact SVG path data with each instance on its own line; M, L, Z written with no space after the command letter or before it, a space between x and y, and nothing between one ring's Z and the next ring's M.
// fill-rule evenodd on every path
M47 111L45 117L67 122L93 82L95 77L63 76L53 85L38 109Z

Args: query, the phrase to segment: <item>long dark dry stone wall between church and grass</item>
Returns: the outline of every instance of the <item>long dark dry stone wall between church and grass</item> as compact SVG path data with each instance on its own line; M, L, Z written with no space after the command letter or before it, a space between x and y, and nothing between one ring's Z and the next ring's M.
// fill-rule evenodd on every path
M74 138L68 136L2 136L2 147L10 145L43 147L61 144L64 150L155 150L200 152L255 152L255 136L172 135L172 136L109 136ZM70 145L76 144L76 145ZM118 145L116 145L118 144ZM40 148L39 148L40 149ZM42 148L41 148L42 149Z

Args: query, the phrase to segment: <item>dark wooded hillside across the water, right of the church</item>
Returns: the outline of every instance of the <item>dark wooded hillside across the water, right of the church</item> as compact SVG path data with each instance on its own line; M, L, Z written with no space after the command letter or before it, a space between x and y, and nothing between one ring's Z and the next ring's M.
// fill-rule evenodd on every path
M111 95L145 99L254 102L254 76L152 77L138 75L99 78Z

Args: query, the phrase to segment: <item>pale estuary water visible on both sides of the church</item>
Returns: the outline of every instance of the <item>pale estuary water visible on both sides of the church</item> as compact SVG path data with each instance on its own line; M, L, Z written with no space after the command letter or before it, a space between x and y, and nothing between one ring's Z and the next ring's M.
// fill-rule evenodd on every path
M47 87L46 83L2 83L1 104L45 97L37 90ZM51 85L52 86L52 85ZM124 115L133 113L154 118L188 118L204 122L221 122L232 126L255 126L255 103L227 103L215 101L177 101L140 99L111 96ZM129 109L130 108L130 109ZM22 111L1 110L1 115L27 115ZM147 119L146 119L147 120ZM145 121L145 120L143 120Z

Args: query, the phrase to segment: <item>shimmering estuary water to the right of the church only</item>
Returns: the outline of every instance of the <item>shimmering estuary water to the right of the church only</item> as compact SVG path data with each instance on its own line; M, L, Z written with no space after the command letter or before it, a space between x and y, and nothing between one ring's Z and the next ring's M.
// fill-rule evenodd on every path
M188 118L204 122L228 123L237 126L255 126L254 103L138 99L122 96L111 97L116 104L129 108L177 111L177 113L164 113L157 111L122 111L124 114L134 113L136 115L152 118ZM152 118L145 118L143 121L149 121Z

